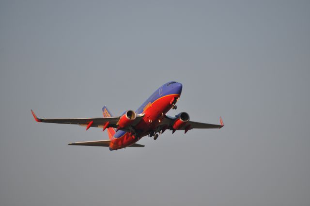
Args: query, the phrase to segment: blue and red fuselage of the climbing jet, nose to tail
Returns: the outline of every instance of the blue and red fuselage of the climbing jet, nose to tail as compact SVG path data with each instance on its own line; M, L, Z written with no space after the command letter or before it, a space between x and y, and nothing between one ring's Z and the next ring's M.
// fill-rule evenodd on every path
M142 137L156 130L165 114L174 107L182 92L182 84L172 81L158 88L140 107L137 114L144 116L136 125L135 131L118 130L112 137L110 150L130 146Z

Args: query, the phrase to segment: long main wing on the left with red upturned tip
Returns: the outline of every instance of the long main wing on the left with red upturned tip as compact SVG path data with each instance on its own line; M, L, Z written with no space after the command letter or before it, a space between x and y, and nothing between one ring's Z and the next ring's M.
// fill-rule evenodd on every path
M121 116L118 117L103 117L103 118L77 118L77 119L44 119L38 118L34 112L31 110L31 113L37 122L46 122L46 123L56 123L56 124L70 124L70 125L79 125L82 127L105 127L105 124L109 122L107 127L117 128L117 123L120 120ZM137 114L135 121L131 124L131 126L137 125L144 114ZM121 128L122 130L130 130L128 127Z

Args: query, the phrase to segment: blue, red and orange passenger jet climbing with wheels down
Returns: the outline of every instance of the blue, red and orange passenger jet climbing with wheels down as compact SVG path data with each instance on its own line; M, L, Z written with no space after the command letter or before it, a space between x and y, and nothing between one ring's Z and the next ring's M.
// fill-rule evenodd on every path
M144 136L158 138L159 134L167 129L184 130L184 133L190 129L196 128L222 128L224 123L219 117L220 125L189 121L189 115L181 112L174 117L166 115L173 109L176 110L176 103L182 92L182 84L176 81L170 81L159 87L136 111L125 111L121 116L114 117L106 106L102 108L103 118L81 118L81 119L45 119L38 118L31 110L31 113L37 122L73 124L86 127L100 127L103 131L107 129L109 140L69 143L68 145L82 146L103 146L109 147L109 150L118 150L126 147L144 147L137 142Z

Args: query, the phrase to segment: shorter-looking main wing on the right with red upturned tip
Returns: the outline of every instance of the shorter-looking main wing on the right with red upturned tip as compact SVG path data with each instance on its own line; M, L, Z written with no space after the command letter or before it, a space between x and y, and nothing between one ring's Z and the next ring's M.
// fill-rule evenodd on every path
M176 117L171 117L165 115L160 127L173 130L172 126L175 122ZM201 123L201 122L194 122L188 121L186 125L180 127L178 130L189 130L189 129L213 129L213 128L222 128L224 127L224 123L221 117L219 117L220 125L208 124L208 123Z

